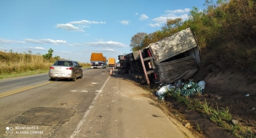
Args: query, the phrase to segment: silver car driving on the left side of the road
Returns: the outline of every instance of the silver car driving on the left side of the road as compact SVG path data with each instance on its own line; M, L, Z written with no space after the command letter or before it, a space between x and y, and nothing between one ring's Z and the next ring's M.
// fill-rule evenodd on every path
M49 77L51 81L55 81L56 79L72 79L72 81L76 81L76 78L83 78L83 70L82 66L76 61L56 61L49 68Z

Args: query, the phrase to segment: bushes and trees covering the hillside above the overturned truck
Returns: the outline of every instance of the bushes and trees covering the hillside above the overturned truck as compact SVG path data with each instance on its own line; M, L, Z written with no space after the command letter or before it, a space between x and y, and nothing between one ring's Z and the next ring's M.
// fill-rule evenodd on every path
M255 0L205 0L206 10L194 7L189 19L168 19L161 30L146 34L134 43L132 50L146 48L149 43L190 27L196 34L202 67L205 71L256 72L256 1ZM140 35L139 35L140 36Z

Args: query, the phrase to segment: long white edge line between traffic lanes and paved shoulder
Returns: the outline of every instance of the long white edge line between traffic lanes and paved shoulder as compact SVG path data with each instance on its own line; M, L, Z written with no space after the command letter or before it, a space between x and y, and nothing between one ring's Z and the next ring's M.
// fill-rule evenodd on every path
M110 79L110 76L108 77L108 79ZM85 112L85 115L83 115L83 118L80 120L80 122L78 123L78 125L76 126L76 130L74 130L73 134L70 136L70 138L74 138L77 137L81 128L83 127L83 125L85 124L86 121L86 117L89 115L89 112L92 110L92 108L94 108L94 104L96 103L96 100L98 99L99 95L101 94L103 88L105 88L105 84L108 82L108 79L105 81L105 83L103 84L103 86L101 87L101 90L99 90L100 92L98 92L98 94L96 95L96 97L94 97L94 101L92 101L91 105L89 106L89 109Z

